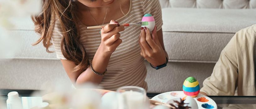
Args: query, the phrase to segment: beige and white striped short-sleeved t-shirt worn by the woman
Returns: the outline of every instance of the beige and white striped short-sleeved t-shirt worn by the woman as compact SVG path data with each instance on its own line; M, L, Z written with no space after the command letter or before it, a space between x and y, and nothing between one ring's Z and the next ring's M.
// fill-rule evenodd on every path
M158 0L131 0L129 12L120 19L115 19L120 24L139 22L142 17L150 13L155 18L157 31L162 28L162 12ZM61 31L56 22L53 31L52 43L54 45L57 58L65 59L61 53ZM87 29L87 26L78 22L80 28L80 41L84 45L89 59L93 59L98 47L101 43L101 35L99 29ZM122 43L116 48L111 55L108 71L99 84L100 87L106 90L116 91L122 86L139 86L147 90L145 78L147 69L144 64L144 58L140 55L140 46L138 39L140 36L140 26L125 27L125 31L120 32Z

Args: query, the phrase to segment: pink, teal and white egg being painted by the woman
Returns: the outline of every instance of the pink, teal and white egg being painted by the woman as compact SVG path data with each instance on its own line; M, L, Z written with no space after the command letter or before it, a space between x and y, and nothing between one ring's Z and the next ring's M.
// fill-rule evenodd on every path
M143 21L147 21L148 22L148 25L146 25L146 27L149 29L150 32L153 31L154 27L155 27L155 19L154 17L151 15L151 14L145 14L143 17L142 17L142 22ZM145 26L141 26L141 27L145 27Z

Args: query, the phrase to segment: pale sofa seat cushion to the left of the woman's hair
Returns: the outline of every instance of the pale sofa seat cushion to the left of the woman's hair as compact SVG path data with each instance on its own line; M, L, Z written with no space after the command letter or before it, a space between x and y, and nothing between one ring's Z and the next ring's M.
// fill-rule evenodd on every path
M19 40L16 43L17 50L14 55L8 58L12 59L53 59L56 60L56 53L47 53L42 43L33 46L40 35L34 31L35 26L30 17L11 18L10 21L15 24L13 29L9 31L10 37ZM50 47L50 51L54 52L54 48Z

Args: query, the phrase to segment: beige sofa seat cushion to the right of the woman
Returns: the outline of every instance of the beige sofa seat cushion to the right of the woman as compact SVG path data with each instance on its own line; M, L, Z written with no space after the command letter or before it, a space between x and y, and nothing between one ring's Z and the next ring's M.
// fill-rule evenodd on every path
M164 8L163 38L169 61L210 62L239 30L256 24L253 9Z

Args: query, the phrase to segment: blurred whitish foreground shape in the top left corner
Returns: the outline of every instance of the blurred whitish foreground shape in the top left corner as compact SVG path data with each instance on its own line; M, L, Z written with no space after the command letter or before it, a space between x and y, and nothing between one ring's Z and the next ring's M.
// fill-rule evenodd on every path
M10 36L9 33L21 19L38 14L41 10L40 0L0 0L0 59L11 58L19 49L21 36Z

